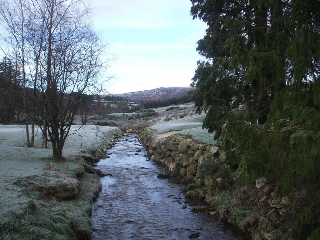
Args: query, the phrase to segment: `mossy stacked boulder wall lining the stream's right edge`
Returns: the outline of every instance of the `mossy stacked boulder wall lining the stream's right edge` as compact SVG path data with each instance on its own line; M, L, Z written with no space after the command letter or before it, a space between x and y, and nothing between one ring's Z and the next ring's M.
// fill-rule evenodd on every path
M150 159L164 164L171 176L180 176L199 186L219 183L221 175L228 172L229 166L224 164L226 153L214 144L200 144L181 135L159 138L157 132L149 128L141 132L140 141L146 147ZM214 162L217 170L206 177L198 171L204 159Z

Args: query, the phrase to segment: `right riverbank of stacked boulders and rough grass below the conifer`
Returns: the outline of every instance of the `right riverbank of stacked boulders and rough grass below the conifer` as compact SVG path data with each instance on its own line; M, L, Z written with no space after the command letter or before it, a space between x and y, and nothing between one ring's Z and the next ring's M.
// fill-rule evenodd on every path
M166 167L171 177L188 184L186 194L204 199L210 215L234 225L254 240L307 239L296 232L298 212L308 206L308 189L295 189L280 196L273 179L260 178L256 184L240 185L231 179L236 171L232 156L215 144L205 144L182 135L159 138L146 128L140 141L151 160Z

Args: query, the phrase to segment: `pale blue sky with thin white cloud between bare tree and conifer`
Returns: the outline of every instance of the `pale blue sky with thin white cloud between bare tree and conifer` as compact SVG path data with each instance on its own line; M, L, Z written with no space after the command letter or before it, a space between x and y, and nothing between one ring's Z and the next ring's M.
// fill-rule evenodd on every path
M108 43L108 92L188 87L206 25L189 0L91 0L92 22Z

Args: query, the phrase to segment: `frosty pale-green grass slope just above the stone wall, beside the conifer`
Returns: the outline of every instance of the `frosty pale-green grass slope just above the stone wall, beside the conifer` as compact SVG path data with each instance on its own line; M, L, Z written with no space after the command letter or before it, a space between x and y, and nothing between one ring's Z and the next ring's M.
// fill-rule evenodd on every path
M157 123L151 126L151 128L157 130L160 134L179 131L174 134L191 136L193 139L204 143L215 143L213 140L214 134L208 133L206 129L202 129L202 122L204 118L205 114L190 116L168 122Z

